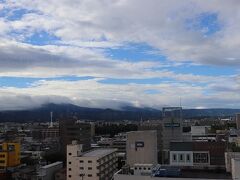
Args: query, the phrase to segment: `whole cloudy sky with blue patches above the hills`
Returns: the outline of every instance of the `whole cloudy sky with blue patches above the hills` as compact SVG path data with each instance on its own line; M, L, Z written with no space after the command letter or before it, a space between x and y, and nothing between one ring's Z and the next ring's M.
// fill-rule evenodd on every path
M0 110L240 108L239 0L0 0Z

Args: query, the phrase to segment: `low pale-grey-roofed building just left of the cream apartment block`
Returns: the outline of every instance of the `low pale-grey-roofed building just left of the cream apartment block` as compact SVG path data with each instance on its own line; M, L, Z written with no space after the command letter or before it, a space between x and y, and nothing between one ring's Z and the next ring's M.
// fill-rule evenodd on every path
M55 178L55 173L62 169L63 162L55 162L52 164L48 164L46 166L42 166L38 170L38 179L41 180L52 180Z

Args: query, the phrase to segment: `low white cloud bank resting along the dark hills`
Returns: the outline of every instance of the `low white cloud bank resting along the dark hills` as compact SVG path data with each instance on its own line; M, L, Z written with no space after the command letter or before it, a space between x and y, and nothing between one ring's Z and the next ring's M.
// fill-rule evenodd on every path
M41 104L72 103L84 107L120 109L131 105L136 107L178 106L181 97L184 108L195 107L239 107L240 95L231 91L214 90L186 83L161 84L103 84L100 79L80 81L41 80L27 88L0 88L0 104L7 104L0 109L20 109L38 107ZM63 88L64 87L64 88ZM148 93L149 89L157 93ZM207 91L214 92L207 95ZM13 103L13 101L16 103Z

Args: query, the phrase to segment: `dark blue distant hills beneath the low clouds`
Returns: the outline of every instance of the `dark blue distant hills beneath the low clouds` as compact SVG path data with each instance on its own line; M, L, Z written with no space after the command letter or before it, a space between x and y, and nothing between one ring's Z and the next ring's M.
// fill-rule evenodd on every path
M95 121L119 121L161 119L161 111L153 108L124 107L122 110L79 107L72 104L46 104L40 108L21 111L1 111L0 122L47 122L50 112L53 118L67 119L76 116L78 119ZM184 118L233 116L240 109L184 109Z

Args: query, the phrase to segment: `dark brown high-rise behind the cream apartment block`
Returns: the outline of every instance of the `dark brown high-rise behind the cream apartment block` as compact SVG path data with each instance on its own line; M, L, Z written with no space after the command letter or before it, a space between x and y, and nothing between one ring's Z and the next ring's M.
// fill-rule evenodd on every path
M91 148L91 124L77 120L62 120L59 123L60 142L62 152L66 152L66 147L73 140L83 145L83 151Z

